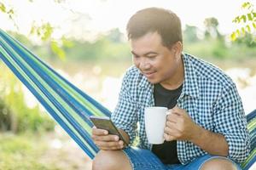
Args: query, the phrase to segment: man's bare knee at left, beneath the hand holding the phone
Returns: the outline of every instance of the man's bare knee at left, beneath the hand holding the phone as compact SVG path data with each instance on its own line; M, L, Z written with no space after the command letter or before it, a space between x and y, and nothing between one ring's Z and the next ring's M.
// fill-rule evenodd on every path
M130 161L121 150L100 150L92 162L93 170L131 170Z

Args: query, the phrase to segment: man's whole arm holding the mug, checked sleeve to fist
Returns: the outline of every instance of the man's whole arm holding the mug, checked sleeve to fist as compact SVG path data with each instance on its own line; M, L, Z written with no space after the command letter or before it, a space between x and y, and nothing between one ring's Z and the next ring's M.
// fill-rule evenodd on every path
M175 107L167 116L165 139L188 140L210 154L242 162L250 151L247 123L235 84L225 86L214 105L212 132L199 127L189 114Z

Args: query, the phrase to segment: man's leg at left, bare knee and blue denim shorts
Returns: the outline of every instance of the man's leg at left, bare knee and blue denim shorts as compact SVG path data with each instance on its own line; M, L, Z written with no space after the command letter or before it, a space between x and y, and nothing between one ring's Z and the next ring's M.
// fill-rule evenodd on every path
M92 165L93 170L166 170L166 166L150 150L128 147L125 150L100 151Z

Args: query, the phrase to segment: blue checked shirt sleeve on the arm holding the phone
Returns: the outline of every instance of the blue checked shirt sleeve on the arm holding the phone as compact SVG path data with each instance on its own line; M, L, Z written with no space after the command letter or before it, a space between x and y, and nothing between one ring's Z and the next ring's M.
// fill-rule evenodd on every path
M137 136L137 105L135 88L131 87L131 76L126 74L119 92L119 101L111 116L114 124L129 135L130 144Z

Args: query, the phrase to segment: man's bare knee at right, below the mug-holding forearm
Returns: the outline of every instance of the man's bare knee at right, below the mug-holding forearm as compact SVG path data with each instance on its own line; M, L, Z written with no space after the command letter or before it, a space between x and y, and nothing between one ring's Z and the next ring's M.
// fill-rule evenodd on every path
M237 170L237 167L228 159L212 158L201 166L201 170Z

